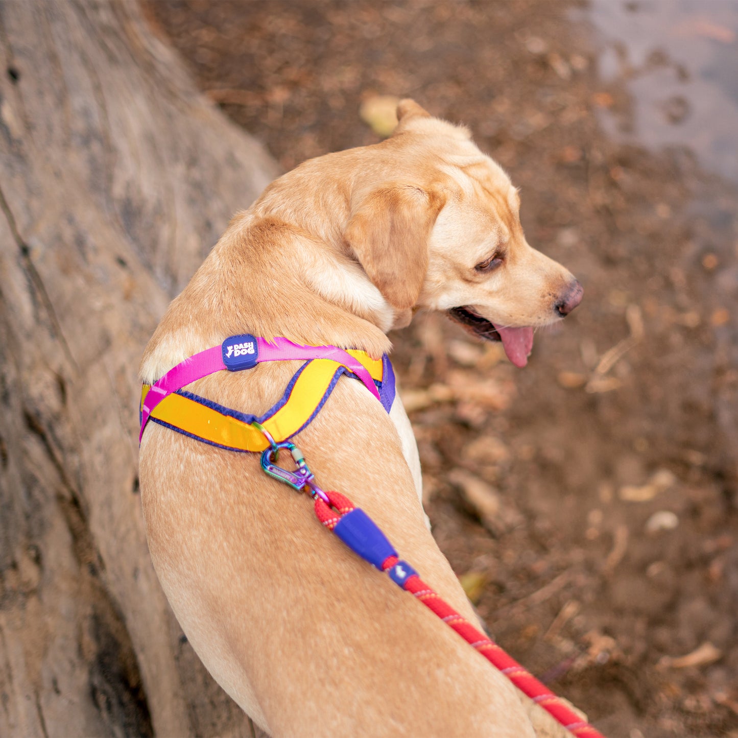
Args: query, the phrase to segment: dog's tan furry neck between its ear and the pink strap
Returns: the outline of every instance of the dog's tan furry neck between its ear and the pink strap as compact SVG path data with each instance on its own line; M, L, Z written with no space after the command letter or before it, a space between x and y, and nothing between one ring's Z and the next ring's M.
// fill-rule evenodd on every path
M140 376L154 382L230 335L360 348L379 358L395 311L361 267L294 224L236 216L149 342Z

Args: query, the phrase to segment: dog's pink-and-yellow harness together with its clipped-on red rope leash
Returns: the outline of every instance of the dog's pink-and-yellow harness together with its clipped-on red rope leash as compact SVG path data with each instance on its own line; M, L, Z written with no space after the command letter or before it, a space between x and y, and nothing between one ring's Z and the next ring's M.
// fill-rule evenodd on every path
M255 367L258 362L295 359L306 359L306 363L294 373L282 399L261 418L182 389L216 371L241 371ZM310 424L344 374L360 379L384 410L390 412L395 398L395 376L386 354L382 359L372 359L365 351L344 351L336 346L302 346L286 338L267 341L251 334L232 336L220 346L185 359L151 386L144 384L139 441L146 424L153 420L222 449L261 451L264 472L297 492L308 492L314 500L317 519L352 551L413 594L576 738L604 738L423 582L418 572L399 558L387 537L361 508L343 494L317 486L302 452L288 439ZM296 469L289 471L277 466L281 450L289 452Z

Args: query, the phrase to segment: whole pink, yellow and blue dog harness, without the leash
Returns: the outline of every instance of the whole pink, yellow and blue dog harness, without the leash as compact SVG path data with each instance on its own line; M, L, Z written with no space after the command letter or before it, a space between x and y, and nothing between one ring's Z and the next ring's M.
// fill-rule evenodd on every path
M248 415L182 389L216 371L241 371L259 362L307 359L280 399L264 415ZM336 346L303 346L286 338L267 341L251 334L231 336L222 345L184 359L141 392L141 432L149 420L229 451L263 451L269 441L286 441L306 428L342 376L360 379L387 413L395 399L395 374L387 354L372 359L366 351ZM258 425L254 425L258 424Z

